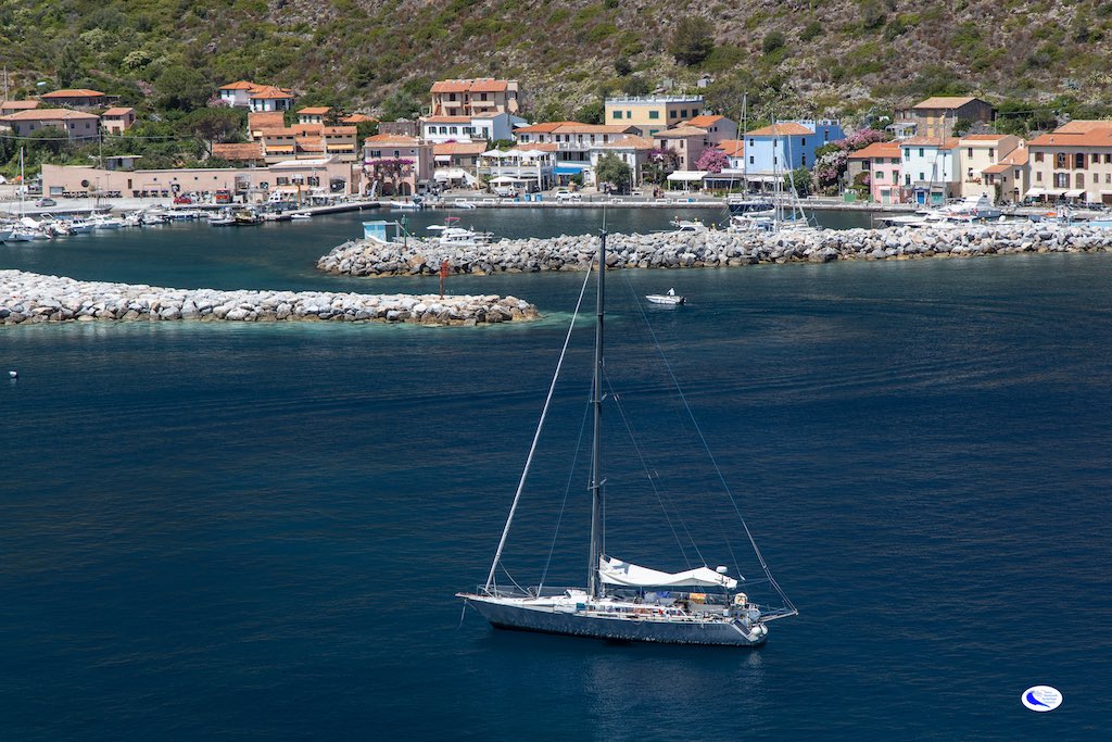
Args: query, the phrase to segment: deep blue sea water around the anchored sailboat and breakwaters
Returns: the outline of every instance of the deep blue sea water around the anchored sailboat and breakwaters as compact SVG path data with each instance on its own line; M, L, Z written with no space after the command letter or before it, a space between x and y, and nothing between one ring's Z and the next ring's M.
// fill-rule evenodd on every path
M0 266L433 288L317 274L360 218L2 245ZM499 234L522 219L479 218ZM580 218L587 231L597 215ZM665 509L722 535L698 520L721 493L665 402L671 369L800 609L747 651L460 623L453 595L486 577L582 279L449 281L545 315L517 326L0 332L0 370L20 372L0 384L0 738L1104 736L1112 259L608 275L607 377L661 456ZM668 286L689 305L636 300ZM569 493L548 581L576 584L586 495L569 452L585 383L562 389L507 565L535 581ZM675 551L607 414L612 551ZM727 535L741 552L736 526ZM1063 705L1024 709L1035 684Z

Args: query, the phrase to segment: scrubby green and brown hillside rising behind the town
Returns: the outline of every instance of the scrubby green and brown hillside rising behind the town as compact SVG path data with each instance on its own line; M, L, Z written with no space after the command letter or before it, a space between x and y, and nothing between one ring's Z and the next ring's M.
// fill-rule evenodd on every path
M756 117L933 93L1079 115L1112 100L1112 0L9 0L0 44L12 97L46 82L141 107L251 79L396 115L435 79L490 76L519 79L533 117L566 118L704 73L713 108L747 91Z

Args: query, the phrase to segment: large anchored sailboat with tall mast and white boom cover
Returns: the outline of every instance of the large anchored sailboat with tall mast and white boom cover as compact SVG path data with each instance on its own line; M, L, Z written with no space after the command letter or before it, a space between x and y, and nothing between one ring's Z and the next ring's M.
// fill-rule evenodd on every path
M520 587L513 577L509 578L508 586L499 585L496 581L499 567L505 568L502 564L504 548L567 353L569 329L486 583L476 587L474 592L461 592L456 596L461 597L466 605L476 609L497 629L564 634L612 642L715 646L763 644L768 635L770 622L796 615L797 611L773 578L744 520L741 522L745 535L767 577L761 582L767 582L775 590L784 601L783 607L763 606L751 602L748 595L741 590L746 587L744 577L731 576L725 566L712 568L704 564L681 572L665 572L616 558L606 551L602 441L605 233L599 240L595 265L597 266L597 315L590 393L594 433L590 455L590 536L586 585L558 588ZM583 294L586 293L586 283L583 288L584 291L579 296L580 306ZM572 320L572 326L575 326L575 318ZM694 422L694 418L692 419ZM716 465L715 471L717 472ZM721 472L717 474L721 478ZM733 502L732 496L731 499ZM738 512L736 503L734 509Z

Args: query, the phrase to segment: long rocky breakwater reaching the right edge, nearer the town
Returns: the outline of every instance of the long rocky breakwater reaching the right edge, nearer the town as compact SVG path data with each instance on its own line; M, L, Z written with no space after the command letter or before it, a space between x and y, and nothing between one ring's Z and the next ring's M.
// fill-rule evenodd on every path
M338 246L317 268L353 276L436 275L446 260L451 273L535 273L585 270L598 238L514 239L475 247L440 247L430 240L383 245L355 240ZM1112 250L1112 229L1031 221L940 228L785 229L776 234L656 233L610 235L612 268L722 268L768 263L828 263L929 257L980 257L1021 253Z

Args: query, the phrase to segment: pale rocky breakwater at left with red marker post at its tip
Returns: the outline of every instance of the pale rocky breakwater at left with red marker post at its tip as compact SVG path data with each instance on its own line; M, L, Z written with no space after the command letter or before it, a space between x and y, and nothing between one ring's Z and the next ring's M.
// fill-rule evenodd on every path
M480 325L533 319L512 296L220 291L79 281L0 270L0 325L46 321L384 321Z

